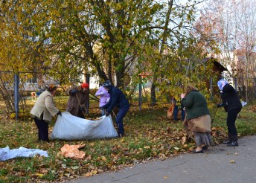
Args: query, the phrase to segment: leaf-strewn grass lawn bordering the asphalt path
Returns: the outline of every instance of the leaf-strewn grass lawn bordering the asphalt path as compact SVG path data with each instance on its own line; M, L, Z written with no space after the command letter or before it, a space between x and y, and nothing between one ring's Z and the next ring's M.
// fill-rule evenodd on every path
M211 109L212 116L215 106ZM256 134L256 106L247 105L237 118L239 136ZM36 143L37 129L31 118L13 121L1 116L0 147L26 147L48 151L48 158L15 158L0 161L0 182L62 182L79 176L93 176L107 170L118 170L152 158L169 158L190 153L195 147L193 135L182 128L181 121L166 118L167 107L131 109L124 119L126 136L95 141L51 141ZM94 118L91 116L91 118ZM115 121L115 118L113 118ZM218 109L212 134L218 144L226 138L226 113ZM114 122L115 123L115 122ZM54 126L51 123L50 133ZM83 159L60 155L64 144L85 144Z

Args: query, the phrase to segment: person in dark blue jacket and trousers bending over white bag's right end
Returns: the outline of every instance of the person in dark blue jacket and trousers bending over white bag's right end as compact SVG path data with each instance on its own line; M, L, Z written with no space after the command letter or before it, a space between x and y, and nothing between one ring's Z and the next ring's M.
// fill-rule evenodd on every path
M100 107L100 109L106 109L106 116L108 116L114 107L119 108L115 122L118 125L118 136L121 138L124 136L123 118L129 111L129 102L124 93L117 87L112 86L109 80L103 83L103 87L109 92L110 100L104 106Z

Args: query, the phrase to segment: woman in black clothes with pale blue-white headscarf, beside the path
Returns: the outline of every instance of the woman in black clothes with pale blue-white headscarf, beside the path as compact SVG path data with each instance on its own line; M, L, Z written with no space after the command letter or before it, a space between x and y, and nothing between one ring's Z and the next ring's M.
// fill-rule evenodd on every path
M225 112L228 112L227 117L227 126L228 126L228 140L224 141L224 144L227 144L228 147L238 146L237 142L237 128L235 126L235 121L237 120L237 115L242 109L242 103L238 97L237 92L228 84L226 80L219 80L217 83L220 89L220 97L223 100L223 103L219 103L218 107L224 107Z

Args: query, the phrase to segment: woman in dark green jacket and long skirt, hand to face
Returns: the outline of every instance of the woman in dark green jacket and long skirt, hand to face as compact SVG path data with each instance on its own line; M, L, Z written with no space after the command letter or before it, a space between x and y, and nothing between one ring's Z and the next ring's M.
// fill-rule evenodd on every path
M196 149L193 153L203 153L208 146L214 145L211 138L211 116L205 97L191 84L181 94L182 106L185 107L186 119L184 126L193 132Z

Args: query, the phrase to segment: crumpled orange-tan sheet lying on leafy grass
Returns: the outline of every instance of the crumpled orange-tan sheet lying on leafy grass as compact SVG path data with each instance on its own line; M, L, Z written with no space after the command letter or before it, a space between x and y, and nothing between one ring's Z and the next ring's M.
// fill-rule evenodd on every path
M61 154L64 155L66 158L83 158L86 153L80 151L81 147L84 147L85 144L80 145L68 145L65 144L61 149Z

